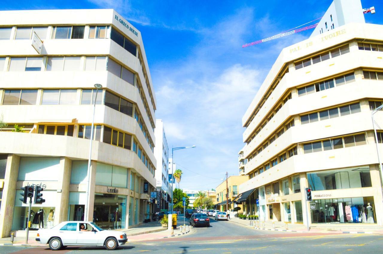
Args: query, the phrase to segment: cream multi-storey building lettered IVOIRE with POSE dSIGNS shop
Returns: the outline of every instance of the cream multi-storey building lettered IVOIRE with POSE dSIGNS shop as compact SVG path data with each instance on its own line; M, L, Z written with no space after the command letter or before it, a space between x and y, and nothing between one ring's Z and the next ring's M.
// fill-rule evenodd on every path
M291 223L306 224L308 213L309 223L383 225L383 130L376 141L371 120L383 102L382 59L383 26L366 23L282 50L242 118L249 179L239 189L251 193L249 213ZM381 111L375 121L383 126Z

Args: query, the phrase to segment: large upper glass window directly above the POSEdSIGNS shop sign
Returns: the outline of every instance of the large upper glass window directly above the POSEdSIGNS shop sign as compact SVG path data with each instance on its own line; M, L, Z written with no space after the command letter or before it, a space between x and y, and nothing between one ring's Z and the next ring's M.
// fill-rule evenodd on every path
M310 172L307 180L313 191L372 186L368 166Z

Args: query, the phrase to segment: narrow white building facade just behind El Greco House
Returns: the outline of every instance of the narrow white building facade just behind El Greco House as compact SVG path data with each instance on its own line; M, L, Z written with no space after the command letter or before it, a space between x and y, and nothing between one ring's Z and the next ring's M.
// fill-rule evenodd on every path
M168 210L170 202L170 191L169 191L169 146L166 140L164 123L162 120L157 119L155 121L155 147L154 157L157 160L157 167L155 170L156 180L156 204L155 212L160 210Z

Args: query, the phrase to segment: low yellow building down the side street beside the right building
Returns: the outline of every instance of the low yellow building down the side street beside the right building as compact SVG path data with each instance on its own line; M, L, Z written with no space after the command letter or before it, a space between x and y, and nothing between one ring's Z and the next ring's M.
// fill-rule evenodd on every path
M242 212L242 204L234 202L234 200L238 197L239 186L242 183L246 182L248 179L248 176L245 175L229 176L227 184L226 180L220 183L216 188L216 199L214 202L214 206L216 207L216 209L220 211L226 211L227 205L229 210L232 210L235 207L239 206L241 207L240 212Z

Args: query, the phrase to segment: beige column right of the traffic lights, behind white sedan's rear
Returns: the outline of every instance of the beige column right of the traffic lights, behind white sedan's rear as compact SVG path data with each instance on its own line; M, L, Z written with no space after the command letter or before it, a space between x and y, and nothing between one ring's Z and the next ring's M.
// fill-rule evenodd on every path
M57 225L68 219L68 206L69 206L69 184L70 175L72 173L72 160L67 157L60 158L60 171L59 181L57 182L57 202L54 223ZM60 192L61 190L61 192Z

